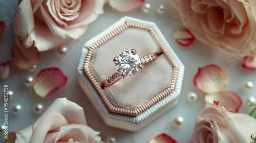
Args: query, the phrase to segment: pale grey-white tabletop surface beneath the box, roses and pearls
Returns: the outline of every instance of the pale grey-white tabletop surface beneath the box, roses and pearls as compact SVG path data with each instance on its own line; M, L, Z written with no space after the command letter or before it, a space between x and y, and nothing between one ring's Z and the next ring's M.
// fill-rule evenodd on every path
M236 60L234 57L229 56L222 50L216 47L206 46L197 40L188 47L180 46L173 38L173 33L176 31L174 22L180 20L177 11L172 7L170 2L145 2L150 3L152 6L151 12L148 14L143 13L139 8L129 13L120 13L106 5L104 7L104 14L100 15L96 21L89 25L89 28L86 34L82 36L82 39L86 42L123 16L132 16L156 22L167 41L185 65L181 97L176 107L167 111L165 114L157 118L157 120L138 132L119 130L104 125L101 118L93 111L91 103L83 94L77 82L77 65L80 57L80 45L82 45L82 42L76 47L76 49L70 49L70 52L65 59L63 57L57 57L56 49L41 52L41 60L37 69L33 73L28 70L20 70L14 66L11 59L10 49L14 41L14 33L12 30L13 22L11 22L10 26L6 27L5 35L0 41L0 63L10 60L12 71L7 80L0 81L0 92L4 92L4 84L8 84L9 88L15 92L14 99L9 101L9 111L11 111L11 107L17 103L22 105L23 111L19 115L15 115L12 112L9 113L9 131L22 130L27 126L32 125L37 120L39 115L33 113L34 104L41 102L46 108L48 108L56 98L66 97L68 100L71 100L83 107L88 125L94 130L100 131L102 139L105 139L108 135L114 135L118 140L117 142L146 142L151 137L165 132L177 139L179 142L189 142L193 133L196 117L204 107L205 102L203 95L199 96L198 100L194 103L188 102L186 96L190 91L197 92L197 88L193 85L193 78L197 73L198 67L203 67L212 63L219 66L228 66L229 84L225 90L231 90L238 93L243 99L243 106L240 109L240 112L249 113L252 108L245 105L245 100L250 96L256 97L256 87L254 87L251 92L245 93L242 90L242 86L246 81L252 81L254 85L256 85L256 71L242 68L242 60ZM0 4L0 20L3 20L5 16L12 18L13 11L16 10L17 4L17 0L2 0ZM156 12L156 7L160 4L164 4L166 7L164 15L159 15ZM80 41L77 40L76 42ZM70 41L69 43L73 43L73 41ZM51 61L53 60L58 62L59 68L61 68L63 73L68 76L68 82L66 86L60 88L54 96L40 98L34 92L30 92L23 84L23 78L27 75L36 75L42 68L51 65ZM1 112L4 109L3 106L3 98L1 98ZM3 122L4 117L1 114L3 114L3 112L0 113L0 122ZM180 127L174 126L173 124L174 118L178 115L184 118L184 124ZM4 141L4 136L0 135L0 142L2 141Z

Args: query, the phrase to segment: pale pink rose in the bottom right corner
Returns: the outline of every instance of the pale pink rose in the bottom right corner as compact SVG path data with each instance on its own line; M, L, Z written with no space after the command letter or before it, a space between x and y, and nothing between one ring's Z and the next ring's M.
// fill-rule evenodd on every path
M200 112L190 142L256 142L251 139L256 120L242 113L232 113L223 106L206 103Z

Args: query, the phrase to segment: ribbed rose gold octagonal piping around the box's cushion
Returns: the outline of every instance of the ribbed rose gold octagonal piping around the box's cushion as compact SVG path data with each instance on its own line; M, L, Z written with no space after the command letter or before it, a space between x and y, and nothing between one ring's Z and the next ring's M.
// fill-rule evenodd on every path
M108 96L106 96L106 94L104 92L104 89L102 89L101 83L97 82L97 80L93 76L91 70L89 69L89 63L90 63L93 51L97 47L99 47L101 44L103 44L104 42L108 41L109 39L111 39L112 37L114 37L118 33L122 32L126 28L139 28L139 29L144 29L144 30L147 30L148 32L150 32L150 34L152 35L152 37L155 39L155 41L157 42L158 46L162 50L163 54L167 57L167 59L170 61L170 64L172 64L173 67L174 67L172 83L170 84L170 87L168 87L167 89L162 91L156 97L154 97L153 99L151 99L146 104L144 104L143 106L141 106L140 108L138 108L136 110L129 110L129 109L124 109L124 108L119 108L119 107L113 106L112 103L110 102ZM95 44L93 44L89 48L89 51L88 51L88 54L87 54L87 57L86 57L86 61L84 62L83 70L87 74L87 76L89 77L89 79L91 80L91 82L93 83L95 88L98 90L101 98L103 99L103 101L105 102L106 106L108 106L108 108L109 108L109 110L111 112L125 114L125 115L131 115L131 116L137 116L137 115L139 115L140 113L142 113L146 109L150 108L151 106L156 104L158 101L160 101L161 99L165 98L166 96L168 96L170 93L172 93L174 91L175 85L176 85L176 82L177 82L179 66L178 66L177 62L174 60L174 58L172 57L172 55L169 54L169 52L167 51L166 47L164 46L162 41L159 39L159 37L157 36L156 32L154 31L154 29L152 27L145 26L145 25L140 25L140 24L137 24L137 23L126 22L124 25L122 25L121 27L117 28L116 30L114 30L110 34L106 35L105 37L103 37L102 39L97 41Z

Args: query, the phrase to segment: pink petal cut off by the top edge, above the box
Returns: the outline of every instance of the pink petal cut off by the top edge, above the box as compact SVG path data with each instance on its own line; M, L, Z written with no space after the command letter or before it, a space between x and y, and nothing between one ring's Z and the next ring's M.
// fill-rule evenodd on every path
M144 3L144 0L129 0L129 1L116 1L116 0L110 0L109 5L120 12L129 12L134 9L136 9L138 6L140 6L142 3Z

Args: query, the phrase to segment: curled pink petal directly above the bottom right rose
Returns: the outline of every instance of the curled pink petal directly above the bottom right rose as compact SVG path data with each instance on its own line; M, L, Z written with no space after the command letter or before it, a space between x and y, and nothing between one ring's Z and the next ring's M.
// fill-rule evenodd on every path
M237 93L232 91L221 91L219 93L206 94L205 102L214 104L214 101L220 101L221 105L230 112L238 112L243 102Z

